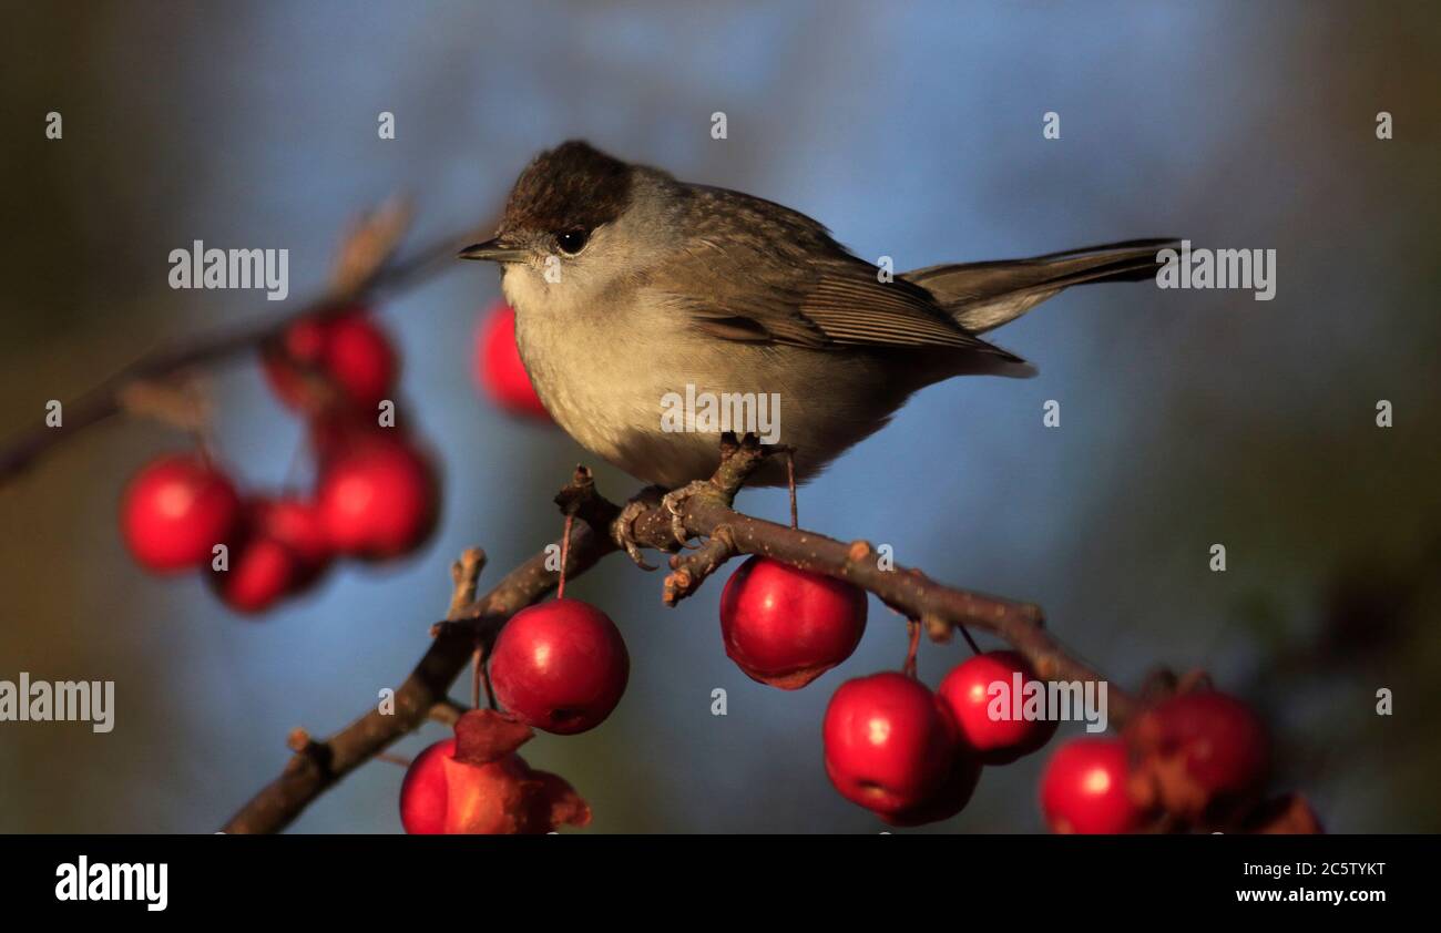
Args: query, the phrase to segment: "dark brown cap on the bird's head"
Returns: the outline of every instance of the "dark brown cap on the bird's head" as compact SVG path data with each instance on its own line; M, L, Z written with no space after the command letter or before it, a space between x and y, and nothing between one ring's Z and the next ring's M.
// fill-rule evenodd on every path
M506 202L501 235L594 230L630 204L631 167L582 140L569 140L535 157Z

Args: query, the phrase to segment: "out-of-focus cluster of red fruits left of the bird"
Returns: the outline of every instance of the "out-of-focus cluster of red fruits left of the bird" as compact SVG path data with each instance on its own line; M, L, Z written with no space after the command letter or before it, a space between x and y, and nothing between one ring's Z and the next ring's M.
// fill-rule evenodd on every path
M349 310L291 324L264 350L267 380L305 416L317 461L311 495L241 495L208 455L147 464L122 500L121 531L156 573L206 569L238 612L264 612L321 579L336 557L414 551L438 515L435 468L393 409L399 373L389 337ZM385 426L382 426L385 425Z

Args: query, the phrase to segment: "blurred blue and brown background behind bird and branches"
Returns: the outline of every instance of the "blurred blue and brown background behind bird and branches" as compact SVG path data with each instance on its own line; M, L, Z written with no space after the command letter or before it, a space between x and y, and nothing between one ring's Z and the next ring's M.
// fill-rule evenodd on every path
M1441 828L1434 4L6 3L4 19L6 433L154 346L275 311L169 289L170 249L288 248L294 307L359 210L406 191L415 242L467 229L571 137L800 209L901 269L1140 236L1277 249L1271 302L1107 285L1042 305L994 334L1038 379L921 393L803 491L801 520L1042 603L1121 684L1208 668L1267 710L1280 786L1334 831ZM1042 138L1046 111L1061 140ZM114 680L118 704L105 736L0 723L0 831L218 828L278 773L291 727L327 734L403 678L463 547L496 579L556 536L550 495L594 458L477 395L473 333L499 287L455 265L379 308L445 474L416 557L342 569L259 622L199 579L150 577L117 497L186 439L140 420L0 490L0 678ZM278 485L300 425L252 359L210 387L228 461ZM771 491L741 505L785 511ZM901 621L873 603L856 655L782 694L725 658L719 580L676 610L659 587L614 557L575 583L624 631L631 684L601 729L542 736L527 759L575 783L599 832L879 831L830 789L820 718L844 678L901 662ZM922 677L964 654L925 646ZM931 829L1038 831L1040 757L987 770ZM372 763L295 829L398 831L399 780Z

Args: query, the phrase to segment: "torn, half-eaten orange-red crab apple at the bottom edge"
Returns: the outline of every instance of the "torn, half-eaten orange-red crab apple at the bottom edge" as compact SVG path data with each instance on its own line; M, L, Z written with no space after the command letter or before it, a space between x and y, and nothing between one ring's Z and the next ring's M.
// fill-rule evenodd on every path
M533 733L490 710L467 713L455 739L429 746L401 785L401 824L411 834L549 832L584 826L591 809L571 785L514 753Z

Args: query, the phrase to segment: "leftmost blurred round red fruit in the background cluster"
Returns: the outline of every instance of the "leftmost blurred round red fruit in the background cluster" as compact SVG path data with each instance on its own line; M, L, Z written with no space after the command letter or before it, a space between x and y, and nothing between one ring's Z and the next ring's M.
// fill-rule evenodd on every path
M210 562L241 518L231 479L196 454L171 454L147 464L121 497L120 528L141 566L159 573Z

